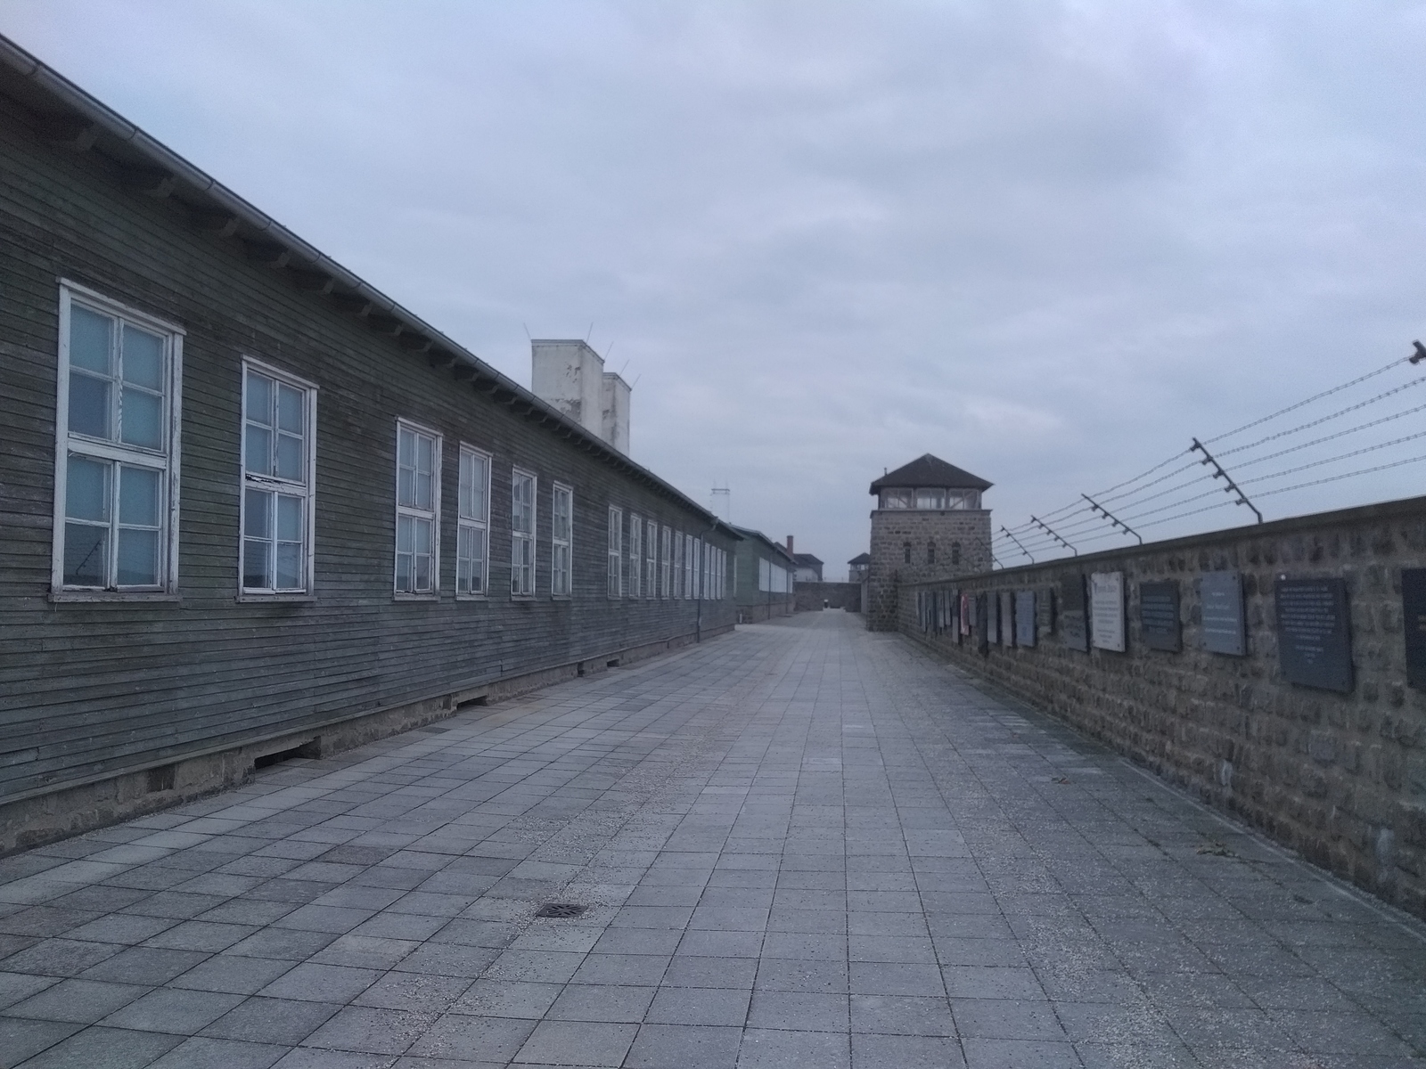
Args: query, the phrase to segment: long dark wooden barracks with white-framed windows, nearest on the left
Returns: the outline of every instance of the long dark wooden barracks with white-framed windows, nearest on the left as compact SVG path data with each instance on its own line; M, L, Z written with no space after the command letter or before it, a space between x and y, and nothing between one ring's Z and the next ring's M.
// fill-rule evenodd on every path
M732 627L619 385L542 401L0 38L0 852Z

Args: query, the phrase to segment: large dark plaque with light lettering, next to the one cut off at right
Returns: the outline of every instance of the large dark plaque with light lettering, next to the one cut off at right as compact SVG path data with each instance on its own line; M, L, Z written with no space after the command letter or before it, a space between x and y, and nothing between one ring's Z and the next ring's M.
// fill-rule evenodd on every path
M1319 690L1352 690L1352 639L1346 582L1279 579L1278 663L1289 683Z

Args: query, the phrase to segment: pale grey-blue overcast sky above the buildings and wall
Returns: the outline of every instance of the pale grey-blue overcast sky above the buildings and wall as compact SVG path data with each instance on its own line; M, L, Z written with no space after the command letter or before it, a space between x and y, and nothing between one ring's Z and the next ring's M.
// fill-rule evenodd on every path
M635 459L829 579L884 468L935 453L1015 527L1426 335L1419 3L0 0L0 33L512 378L526 329L588 334Z

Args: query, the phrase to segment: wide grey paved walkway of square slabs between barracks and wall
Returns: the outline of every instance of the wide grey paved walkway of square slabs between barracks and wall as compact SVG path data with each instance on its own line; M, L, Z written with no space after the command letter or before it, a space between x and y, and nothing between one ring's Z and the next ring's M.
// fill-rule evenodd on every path
M834 611L3 859L0 1008L26 1069L1385 1069L1426 941Z

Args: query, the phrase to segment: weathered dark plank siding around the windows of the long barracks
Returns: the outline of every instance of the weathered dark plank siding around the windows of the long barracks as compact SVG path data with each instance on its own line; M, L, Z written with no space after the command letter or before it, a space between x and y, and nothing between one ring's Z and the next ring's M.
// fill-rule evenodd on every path
M40 140L0 105L0 804L299 731L694 630L692 600L609 599L616 505L703 534L670 487L405 352L116 165ZM58 279L181 326L177 601L50 600ZM318 386L315 600L238 601L241 362ZM442 593L392 596L395 425L443 436ZM491 465L489 589L456 600L459 445ZM512 600L511 468L538 479L536 597ZM550 492L573 487L573 596L550 589ZM727 554L736 537L709 536ZM733 600L703 603L703 629Z

